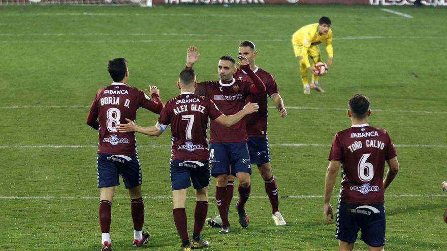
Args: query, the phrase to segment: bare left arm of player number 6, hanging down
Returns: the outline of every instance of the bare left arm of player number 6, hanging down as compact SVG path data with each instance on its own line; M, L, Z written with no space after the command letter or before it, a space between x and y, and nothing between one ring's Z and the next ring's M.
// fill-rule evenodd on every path
M332 212L331 206L331 196L332 191L334 190L335 180L337 178L338 169L340 168L340 161L331 160L329 162L328 169L326 170L326 178L325 178L325 199L323 201L323 210L325 220L328 223L332 223L334 220L334 214Z

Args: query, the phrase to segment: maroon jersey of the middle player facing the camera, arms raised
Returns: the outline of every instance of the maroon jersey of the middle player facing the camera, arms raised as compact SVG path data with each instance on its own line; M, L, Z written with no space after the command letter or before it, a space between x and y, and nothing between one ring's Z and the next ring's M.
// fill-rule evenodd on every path
M206 81L197 84L196 94L214 101L225 115L233 115L243 109L245 98L250 94L252 83L245 80L233 80L226 84L221 81ZM247 141L245 131L246 120L243 118L230 127L211 121L210 142L243 142Z

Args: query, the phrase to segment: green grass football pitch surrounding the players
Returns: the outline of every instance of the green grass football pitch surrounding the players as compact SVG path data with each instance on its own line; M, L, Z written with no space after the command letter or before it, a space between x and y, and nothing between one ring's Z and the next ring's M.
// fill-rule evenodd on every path
M269 110L268 130L288 225L274 225L255 170L247 204L250 226L238 226L232 206L231 234L204 227L207 250L336 250L335 225L323 219L324 177L334 133L350 126L346 101L358 92L371 99L370 124L387 129L399 153L401 169L386 193L386 249L447 250L442 220L447 197L440 189L447 180L447 9L387 8L413 18L342 5L0 6L0 250L100 249L98 136L85 121L95 92L111 83L108 59L125 57L129 84L157 85L166 101L179 93L177 74L189 45L201 54L198 80L217 80L218 57L236 55L241 40L256 43L257 65L273 74L289 107L285 119ZM334 63L321 78L327 92L304 95L291 35L323 15L333 23ZM324 46L322 53L326 60ZM153 125L156 118L140 110L137 122ZM145 230L152 237L147 250L180 245L170 200L169 134L137 136ZM339 182L340 177L334 207ZM213 216L214 179L211 184ZM192 231L194 200L186 207ZM115 250L135 250L123 185L113 203L111 236ZM366 246L358 240L355 250Z

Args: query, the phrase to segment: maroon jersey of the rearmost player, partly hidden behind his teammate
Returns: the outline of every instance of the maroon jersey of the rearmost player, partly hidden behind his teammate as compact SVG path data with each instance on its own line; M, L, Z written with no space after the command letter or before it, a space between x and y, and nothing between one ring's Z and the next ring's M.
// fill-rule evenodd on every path
M245 116L247 121L247 136L248 137L266 137L267 136L267 95L269 97L273 93L278 93L278 86L276 85L276 81L271 74L267 71L256 66L253 70L254 73L264 82L266 86L266 92L260 94L249 95L245 102L258 103L259 111L257 113L252 113L250 115ZM237 73L234 75L234 78L237 80L247 80L251 81L250 77L247 73L238 69Z

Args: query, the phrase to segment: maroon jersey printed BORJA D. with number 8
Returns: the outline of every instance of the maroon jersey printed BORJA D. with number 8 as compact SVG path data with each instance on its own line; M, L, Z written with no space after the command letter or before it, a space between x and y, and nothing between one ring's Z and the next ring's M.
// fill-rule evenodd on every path
M140 106L159 114L163 102L158 94L152 94L151 100L143 91L124 83L112 83L97 92L88 113L87 124L99 129L98 153L137 153L135 133L120 133L115 127L119 123L127 123L126 118L135 121Z

